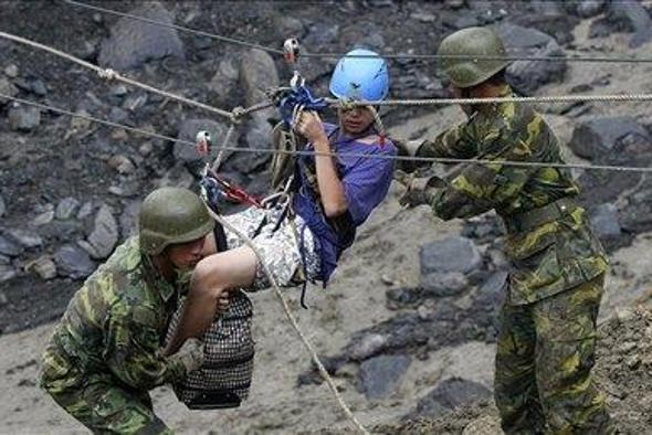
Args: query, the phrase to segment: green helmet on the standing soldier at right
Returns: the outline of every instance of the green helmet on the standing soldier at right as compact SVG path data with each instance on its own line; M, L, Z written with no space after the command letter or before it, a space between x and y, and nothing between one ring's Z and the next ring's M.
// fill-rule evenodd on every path
M501 36L490 28L462 29L444 38L437 54L453 56L444 57L441 66L451 83L461 88L479 85L509 65L506 60L473 59L473 56L506 56Z

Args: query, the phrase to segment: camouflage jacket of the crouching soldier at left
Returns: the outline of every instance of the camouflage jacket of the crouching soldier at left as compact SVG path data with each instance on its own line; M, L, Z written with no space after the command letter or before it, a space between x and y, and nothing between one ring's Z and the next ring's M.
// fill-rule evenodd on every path
M140 255L137 237L111 258L74 295L52 336L56 353L43 364L71 364L64 384L88 378L150 390L182 379L180 361L162 356L161 339L177 305L178 291ZM49 361L52 360L52 361Z

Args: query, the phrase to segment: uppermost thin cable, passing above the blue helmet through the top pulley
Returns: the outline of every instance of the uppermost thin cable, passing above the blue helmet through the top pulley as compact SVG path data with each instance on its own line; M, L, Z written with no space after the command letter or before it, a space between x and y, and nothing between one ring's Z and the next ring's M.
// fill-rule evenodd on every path
M210 33L197 29L187 28L183 25L170 24L158 20L153 20L147 17L137 15L134 13L128 12L119 12L114 9L103 8L94 4L84 3L81 1L75 0L63 0L65 3L77 7L84 8L97 12L108 13L116 17L128 18L132 20L146 22L154 25L160 25L164 28L175 29L181 32L188 32L192 34L197 34L200 36L210 38L217 41L227 42L230 44L248 46L251 49L259 49L265 51L267 53L283 55L284 51L280 49L275 49L269 45L263 45L259 43L248 42L243 40L239 40L231 36L224 36L215 33ZM516 62L516 61L547 61L547 62L590 62L590 63L652 63L652 59L637 59L637 57L608 57L608 56L541 56L541 55L505 55L505 56L493 56L493 55L441 55L441 54L408 54L408 53L399 53L399 54L391 54L391 53L381 53L381 57L385 59L397 59L397 60L442 60L442 59L473 59L476 61L507 61L507 62ZM302 53L302 57L322 57L322 59L340 59L340 57L378 57L375 55L365 55L365 54L354 54L349 55L346 53Z

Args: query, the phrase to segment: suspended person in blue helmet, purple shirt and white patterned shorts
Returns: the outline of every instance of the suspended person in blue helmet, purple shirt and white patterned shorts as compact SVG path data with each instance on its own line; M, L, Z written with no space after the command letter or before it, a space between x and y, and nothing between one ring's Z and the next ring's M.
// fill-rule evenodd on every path
M354 50L337 63L329 88L343 100L381 100L389 92L387 63L375 52ZM397 150L376 130L372 110L338 109L338 125L322 123L315 112L297 113L294 130L305 139L305 150L313 152L302 153L294 163L290 212L270 219L264 209L251 206L224 216L253 238L280 286L306 280L325 286L341 253L354 243L356 229L386 197ZM227 251L217 248L214 236L208 237L207 256L194 268L167 354L188 338L204 335L222 291L271 287L254 251L238 235L223 232Z

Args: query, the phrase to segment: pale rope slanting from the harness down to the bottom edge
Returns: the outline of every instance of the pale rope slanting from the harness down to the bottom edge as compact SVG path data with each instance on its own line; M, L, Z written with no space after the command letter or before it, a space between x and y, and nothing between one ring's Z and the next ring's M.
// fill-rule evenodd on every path
M322 378L324 378L324 381L326 381L326 384L328 384L328 388L330 389L330 392L335 396L335 400L337 401L337 404L343 410L343 412L345 413L345 415L351 421L351 423L354 424L354 426L361 434L369 434L369 432L365 428L365 426L362 426L360 424L360 422L358 421L358 418L354 415L354 413L351 412L351 410L348 407L348 405L346 404L346 402L344 401L344 399L341 397L341 395L337 391L337 385L335 385L335 382L333 381L333 378L330 378L330 375L328 374L328 371L326 371L326 368L322 363L322 360L317 356L317 352L313 348L313 344L311 343L311 341L308 340L308 338L305 336L305 333L301 329L298 322L296 321L296 318L294 317L294 315L290 310L290 306L287 305L287 300L285 300L285 296L283 296L283 293L281 291L281 288L278 288L278 284L276 283L276 279L274 279L274 276L272 275L272 272L270 270L270 267L264 262L263 255L261 254L260 250L255 246L255 244L253 243L253 241L250 237L246 236L246 234L242 233L240 230L238 230L235 226L231 225L222 216L220 216L219 214L217 214L215 212L213 212L213 210L206 202L204 202L204 206L208 210L209 214L215 221L218 221L220 224L222 224L222 226L224 226L227 230L229 230L229 231L233 232L234 234L236 234L246 244L246 246L249 246L253 251L253 253L255 254L259 263L263 267L263 272L265 273L267 279L270 280L270 284L272 285L272 288L274 290L274 294L276 295L276 297L278 298L278 301L281 303L281 306L283 307L283 311L285 311L285 316L287 317L287 320L290 320L290 323L292 325L292 328L296 331L296 333L298 335L299 339L302 340L302 342L304 343L304 346L306 347L306 349L311 353L311 357L312 357L313 361L317 365L317 370L319 371L319 374L322 375Z

